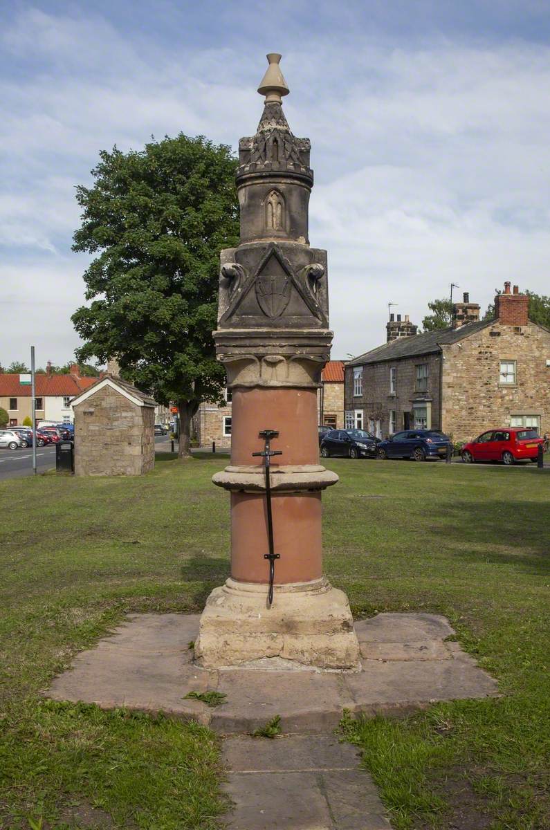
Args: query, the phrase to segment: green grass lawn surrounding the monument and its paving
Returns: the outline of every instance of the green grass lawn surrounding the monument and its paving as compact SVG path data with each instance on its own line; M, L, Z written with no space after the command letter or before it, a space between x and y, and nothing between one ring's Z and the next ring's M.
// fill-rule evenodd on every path
M0 827L84 827L91 806L95 827L219 826L209 730L39 693L124 613L202 608L228 575L228 496L210 483L224 462L166 456L139 479L0 483ZM326 570L356 616L444 613L503 693L344 720L395 828L548 830L550 474L330 466L341 483L323 496Z

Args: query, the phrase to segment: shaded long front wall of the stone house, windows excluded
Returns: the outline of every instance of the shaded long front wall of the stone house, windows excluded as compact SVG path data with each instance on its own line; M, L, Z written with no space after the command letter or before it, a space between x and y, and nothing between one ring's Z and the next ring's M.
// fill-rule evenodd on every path
M416 366L428 364L427 391L416 388ZM395 394L390 393L390 367L395 367ZM363 428L369 429L370 421L380 421L382 437L390 434L390 410L395 410L395 432L405 429L405 413L410 414L410 427L414 427L413 403L429 404L432 429L440 429L440 354L415 355L415 357L387 360L378 364L366 364L363 369L363 393L353 394L353 370L346 366L346 410L363 410Z

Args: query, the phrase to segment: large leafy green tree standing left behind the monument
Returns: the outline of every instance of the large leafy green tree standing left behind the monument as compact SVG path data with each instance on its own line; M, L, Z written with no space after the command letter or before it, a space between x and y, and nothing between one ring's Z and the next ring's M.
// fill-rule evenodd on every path
M140 151L102 151L94 185L76 188L74 251L95 256L72 315L79 360L115 358L123 377L179 407L179 455L204 400L221 402L216 361L219 251L238 242L236 159L223 144L179 134Z

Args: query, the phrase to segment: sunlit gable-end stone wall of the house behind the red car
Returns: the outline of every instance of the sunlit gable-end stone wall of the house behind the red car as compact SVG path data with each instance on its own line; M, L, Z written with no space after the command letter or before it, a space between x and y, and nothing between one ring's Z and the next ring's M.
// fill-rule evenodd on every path
M550 431L550 332L530 322L514 326L495 320L443 349L442 428L455 441L508 427L513 415L537 415L541 435ZM516 361L517 383L499 382L501 360Z

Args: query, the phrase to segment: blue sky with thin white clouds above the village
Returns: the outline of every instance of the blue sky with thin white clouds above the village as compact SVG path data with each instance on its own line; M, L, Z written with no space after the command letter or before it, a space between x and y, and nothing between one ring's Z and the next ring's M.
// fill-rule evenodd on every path
M236 149L282 52L312 139L312 246L333 357L385 339L387 303L505 280L550 293L550 0L0 0L0 364L71 359L86 257L78 183L100 149L205 134Z

